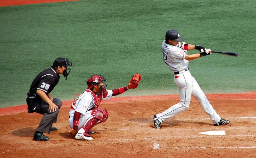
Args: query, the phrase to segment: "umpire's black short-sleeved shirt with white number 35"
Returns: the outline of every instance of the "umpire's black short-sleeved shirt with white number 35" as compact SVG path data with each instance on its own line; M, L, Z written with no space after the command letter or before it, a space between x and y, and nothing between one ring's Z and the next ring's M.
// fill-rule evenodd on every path
M46 94L52 92L53 88L58 84L60 75L52 67L40 72L31 84L29 92L36 93L41 90Z

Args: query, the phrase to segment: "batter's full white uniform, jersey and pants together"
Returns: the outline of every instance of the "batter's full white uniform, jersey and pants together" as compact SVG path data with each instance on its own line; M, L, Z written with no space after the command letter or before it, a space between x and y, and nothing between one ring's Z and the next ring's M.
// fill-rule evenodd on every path
M162 43L163 61L173 72L184 70L189 65L189 61L185 60L187 51L179 46L180 43L177 46L168 45L165 41ZM213 109L197 81L190 74L190 71L188 69L186 70L187 71L181 71L174 75L173 78L175 85L179 88L180 103L171 106L162 113L156 114L155 119L158 119L162 123L163 121L186 110L189 108L192 95L199 101L201 107L212 119L213 123L218 123L220 121L220 116Z

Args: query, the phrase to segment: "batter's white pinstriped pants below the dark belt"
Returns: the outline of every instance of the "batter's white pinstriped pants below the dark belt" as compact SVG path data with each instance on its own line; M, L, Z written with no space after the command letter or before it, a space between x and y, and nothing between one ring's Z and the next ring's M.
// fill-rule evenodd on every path
M191 95L199 101L201 107L212 119L214 124L220 121L220 116L213 109L213 106L209 103L197 81L189 71L174 75L174 83L179 88L180 103L171 106L162 113L156 114L157 119L161 123L189 108Z

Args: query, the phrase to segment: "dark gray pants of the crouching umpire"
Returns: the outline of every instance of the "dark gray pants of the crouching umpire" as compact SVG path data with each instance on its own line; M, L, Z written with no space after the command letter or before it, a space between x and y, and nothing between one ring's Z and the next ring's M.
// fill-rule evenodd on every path
M37 113L43 114L43 118L41 119L41 122L37 127L36 131L43 132L43 133L50 133L50 129L53 123L57 122L57 117L58 117L59 109L62 105L62 102L60 101L60 99L53 98L53 103L56 104L59 108L56 108L56 111L54 112L50 112L49 104L47 104L42 99L41 110L38 111Z

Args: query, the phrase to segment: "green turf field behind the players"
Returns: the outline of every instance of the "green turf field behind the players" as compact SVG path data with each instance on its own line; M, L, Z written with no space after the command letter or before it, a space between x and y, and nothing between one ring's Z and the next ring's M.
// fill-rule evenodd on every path
M256 90L254 0L84 0L0 7L0 107L26 104L32 80L55 58L72 61L52 96L72 100L90 75L106 77L108 89L126 86L134 73L136 90L120 96L178 94L162 61L168 29L183 41L213 51L190 61L191 74L205 93ZM198 53L196 50L189 54Z

